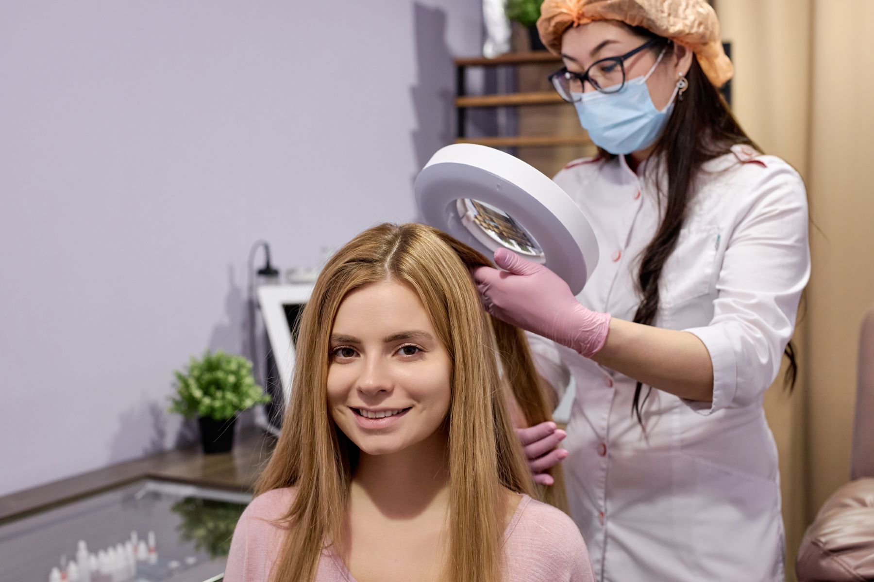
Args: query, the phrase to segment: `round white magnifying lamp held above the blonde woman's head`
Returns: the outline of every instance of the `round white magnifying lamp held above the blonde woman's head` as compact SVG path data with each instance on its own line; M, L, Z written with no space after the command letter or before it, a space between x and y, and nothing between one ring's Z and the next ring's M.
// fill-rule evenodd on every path
M492 147L459 143L428 161L413 186L427 224L491 257L503 247L582 291L598 264L583 211L554 181Z

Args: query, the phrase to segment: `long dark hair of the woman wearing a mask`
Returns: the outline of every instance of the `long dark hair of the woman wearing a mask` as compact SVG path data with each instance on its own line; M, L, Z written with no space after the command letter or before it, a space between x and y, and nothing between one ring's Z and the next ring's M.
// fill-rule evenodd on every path
M629 28L642 38L660 38L641 27ZM653 51L660 51L669 42L664 38L662 40L664 43L656 43ZM680 230L683 229L686 209L694 193L695 178L702 164L720 155L728 154L732 146L738 144L745 144L762 151L740 127L725 99L698 65L697 58L692 58L692 65L686 79L689 81L689 87L683 92L683 100L676 100L664 134L655 144L651 154L664 157L665 163L656 165L656 168L660 168L658 171L667 172L668 191L659 193L659 204L662 203L662 197L667 200L664 217L652 241L642 252L641 268L637 277L641 303L635 312L634 321L643 325L652 325L658 313L659 280L662 278L662 268L674 251ZM599 151L603 158L615 157L601 148ZM784 353L789 360L784 386L792 392L798 375L798 362L791 341ZM637 382L635 399L632 403L632 414L636 415L641 426L643 425L641 410L652 391L652 387L649 387L641 401L642 387L642 382Z

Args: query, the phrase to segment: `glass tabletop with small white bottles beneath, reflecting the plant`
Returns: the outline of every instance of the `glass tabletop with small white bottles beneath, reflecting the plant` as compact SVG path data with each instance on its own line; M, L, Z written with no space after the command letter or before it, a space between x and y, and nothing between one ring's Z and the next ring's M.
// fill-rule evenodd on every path
M55 567L66 582L215 579L225 571L233 528L251 500L156 479L80 498L0 524L2 579L50 580Z

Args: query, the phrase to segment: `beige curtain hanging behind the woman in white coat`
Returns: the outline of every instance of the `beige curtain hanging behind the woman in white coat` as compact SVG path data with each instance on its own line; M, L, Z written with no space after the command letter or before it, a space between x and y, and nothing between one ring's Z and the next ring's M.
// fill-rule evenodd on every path
M804 176L815 223L796 333L801 379L791 397L772 387L766 399L792 580L804 530L849 478L858 328L874 303L874 2L719 0L716 9L732 42L734 112Z

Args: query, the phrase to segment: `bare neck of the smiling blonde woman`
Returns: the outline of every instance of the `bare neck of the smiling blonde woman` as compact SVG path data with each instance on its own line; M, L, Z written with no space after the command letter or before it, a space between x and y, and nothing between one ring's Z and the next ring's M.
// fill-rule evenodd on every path
M350 495L385 517L404 519L448 502L447 435L438 430L422 442L387 455L361 451Z

